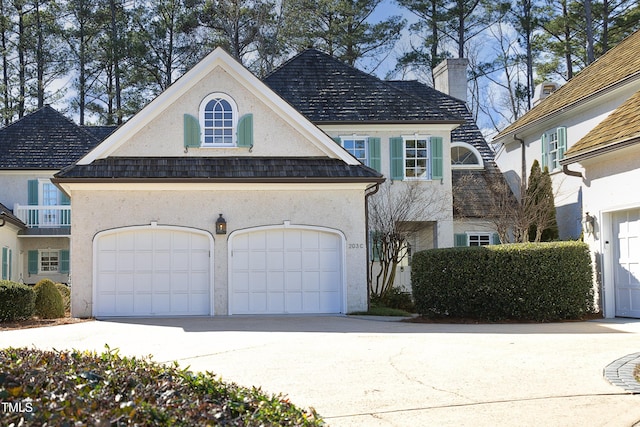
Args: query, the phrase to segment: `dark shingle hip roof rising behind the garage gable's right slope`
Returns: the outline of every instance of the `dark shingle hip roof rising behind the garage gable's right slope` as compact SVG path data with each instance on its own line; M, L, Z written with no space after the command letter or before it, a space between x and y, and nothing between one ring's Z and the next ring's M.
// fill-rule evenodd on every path
M312 122L460 123L437 105L316 49L276 69L264 82Z

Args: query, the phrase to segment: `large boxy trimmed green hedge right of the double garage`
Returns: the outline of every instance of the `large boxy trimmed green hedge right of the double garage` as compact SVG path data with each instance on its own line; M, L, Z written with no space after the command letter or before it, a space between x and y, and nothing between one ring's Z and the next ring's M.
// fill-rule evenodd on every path
M591 257L581 242L422 251L411 282L425 317L553 321L594 312Z

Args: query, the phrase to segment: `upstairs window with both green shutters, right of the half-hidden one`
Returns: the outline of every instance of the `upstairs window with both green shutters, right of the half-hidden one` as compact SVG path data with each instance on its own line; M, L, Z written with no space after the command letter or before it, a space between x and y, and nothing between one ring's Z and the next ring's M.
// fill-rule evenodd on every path
M442 137L412 135L389 142L391 179L442 179Z

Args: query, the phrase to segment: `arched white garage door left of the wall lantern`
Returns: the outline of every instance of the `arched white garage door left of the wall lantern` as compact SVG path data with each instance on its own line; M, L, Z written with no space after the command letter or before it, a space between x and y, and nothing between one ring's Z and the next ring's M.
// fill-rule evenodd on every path
M210 314L206 234L148 227L96 239L96 316Z

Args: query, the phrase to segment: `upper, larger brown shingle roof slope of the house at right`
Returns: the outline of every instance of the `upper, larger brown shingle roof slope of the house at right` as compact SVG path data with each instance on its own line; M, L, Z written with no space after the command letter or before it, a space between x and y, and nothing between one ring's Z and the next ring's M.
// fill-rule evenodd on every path
M523 126L541 120L563 108L568 108L620 82L640 78L640 31L628 36L616 47L591 63L564 86L549 95L502 130L496 139Z

